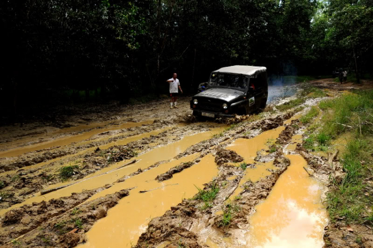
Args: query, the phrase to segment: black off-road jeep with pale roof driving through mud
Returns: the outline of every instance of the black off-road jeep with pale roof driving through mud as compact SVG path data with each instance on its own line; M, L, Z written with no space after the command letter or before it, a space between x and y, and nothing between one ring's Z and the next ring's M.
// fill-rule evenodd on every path
M190 101L194 116L234 117L248 115L266 107L267 68L235 65L213 71L208 90Z

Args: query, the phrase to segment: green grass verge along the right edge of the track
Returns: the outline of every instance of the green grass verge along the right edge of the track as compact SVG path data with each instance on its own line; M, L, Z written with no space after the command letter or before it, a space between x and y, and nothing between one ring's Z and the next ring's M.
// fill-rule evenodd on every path
M332 139L352 133L353 138L340 154L346 174L338 182L330 178L333 186L327 195L327 209L332 222L342 219L346 224L373 226L373 213L368 211L373 188L367 183L373 176L373 91L355 93L319 103L324 115L304 146L312 148L317 143L327 147Z

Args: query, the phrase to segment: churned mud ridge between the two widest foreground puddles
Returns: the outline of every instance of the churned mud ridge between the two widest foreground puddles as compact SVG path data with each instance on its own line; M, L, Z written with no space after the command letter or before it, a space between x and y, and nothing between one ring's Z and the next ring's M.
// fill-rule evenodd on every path
M290 117L291 115L286 116L286 118ZM297 125L292 124L288 125L289 127L280 133L278 143L285 144L290 142L291 138L288 139L287 137L291 137L298 129ZM267 155L275 157L274 165L277 167L277 170L274 170L271 175L256 183L246 182L239 197L226 204L225 200L236 190L243 175L243 170L240 167L235 167L228 163L239 162L243 158L237 153L222 149L221 147L215 147L214 150L216 151L215 161L220 165L219 175L214 181L206 184L203 189L220 188L215 200L211 203L212 207L205 209L203 202L196 200L195 197L184 199L182 203L172 207L163 216L151 220L147 231L139 238L136 248L157 247L163 242L168 242L167 244L169 245L166 247L177 248L185 246L199 248L202 247L202 244L199 243L200 236L203 236L203 233L209 232L210 229L220 230L219 233L228 234L234 229L239 228L240 225L247 225L247 217L252 213L254 207L267 198L280 175L290 164L290 161L284 157L281 150ZM235 179L228 180L228 177L232 175L236 176ZM237 209L240 209L240 211L234 213L233 221L223 228L220 225L222 215L216 216L216 212L221 209L225 211L226 208L231 208L232 206L237 206Z

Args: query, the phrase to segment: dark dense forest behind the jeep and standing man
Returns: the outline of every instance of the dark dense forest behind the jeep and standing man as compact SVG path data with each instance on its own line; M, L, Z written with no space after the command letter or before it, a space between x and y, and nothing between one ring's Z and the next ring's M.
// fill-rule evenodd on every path
M372 77L372 0L4 0L0 16L3 115L167 94L173 72L194 93L235 64Z

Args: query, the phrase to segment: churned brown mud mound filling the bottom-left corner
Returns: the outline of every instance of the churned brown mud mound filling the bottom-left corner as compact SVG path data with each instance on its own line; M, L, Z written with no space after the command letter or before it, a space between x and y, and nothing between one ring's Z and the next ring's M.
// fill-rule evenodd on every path
M108 209L129 194L128 190L121 190L75 207L99 190L102 189L52 199L33 206L25 205L7 212L2 221L6 228L1 232L0 244L3 247L13 247L5 244L24 234L17 241L28 247L77 246L85 241L85 233L91 229L93 223L105 217ZM12 228L8 228L9 225Z

